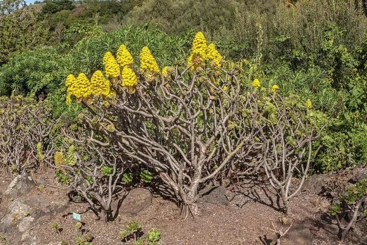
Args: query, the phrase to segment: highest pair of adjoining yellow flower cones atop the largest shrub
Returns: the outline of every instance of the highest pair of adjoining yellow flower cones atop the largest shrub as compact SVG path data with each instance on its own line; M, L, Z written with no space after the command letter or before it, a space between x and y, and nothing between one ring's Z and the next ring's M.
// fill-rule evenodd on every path
M220 66L220 61L222 60L221 54L217 51L215 44L211 43L206 46L206 39L202 32L198 32L195 35L192 48L191 55L188 59L188 65L192 65L196 62L195 65L192 66L192 69L196 69L200 63L205 60L209 60L214 62L217 66Z

